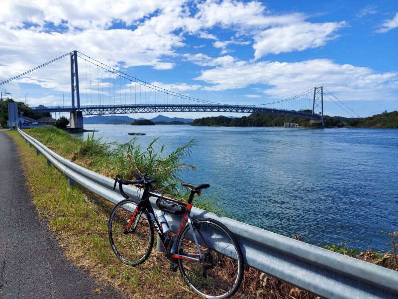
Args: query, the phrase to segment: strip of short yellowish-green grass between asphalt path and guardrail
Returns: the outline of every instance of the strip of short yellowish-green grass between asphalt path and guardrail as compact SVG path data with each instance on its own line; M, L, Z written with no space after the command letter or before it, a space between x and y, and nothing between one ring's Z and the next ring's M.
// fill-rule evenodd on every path
M53 165L47 167L43 156L36 155L16 131L7 134L18 145L39 217L48 219L67 259L90 270L99 283L115 287L126 298L196 298L155 249L140 267L120 263L110 248L107 233L113 205L78 185L69 188L66 176Z

